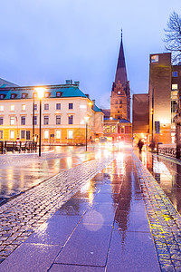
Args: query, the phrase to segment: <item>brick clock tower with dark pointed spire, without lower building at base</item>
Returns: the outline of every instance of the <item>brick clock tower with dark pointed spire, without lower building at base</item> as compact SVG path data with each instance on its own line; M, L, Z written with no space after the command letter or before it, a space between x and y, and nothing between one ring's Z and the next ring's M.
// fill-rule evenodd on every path
M122 32L119 60L110 97L110 116L115 119L130 121L130 89L122 44Z

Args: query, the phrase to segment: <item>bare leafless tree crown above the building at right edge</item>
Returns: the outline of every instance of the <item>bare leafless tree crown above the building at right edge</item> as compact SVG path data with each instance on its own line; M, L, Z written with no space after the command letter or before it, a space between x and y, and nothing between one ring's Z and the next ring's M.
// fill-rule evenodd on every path
M172 62L177 64L181 62L181 16L173 12L169 16L167 28L164 29L165 47L172 53Z

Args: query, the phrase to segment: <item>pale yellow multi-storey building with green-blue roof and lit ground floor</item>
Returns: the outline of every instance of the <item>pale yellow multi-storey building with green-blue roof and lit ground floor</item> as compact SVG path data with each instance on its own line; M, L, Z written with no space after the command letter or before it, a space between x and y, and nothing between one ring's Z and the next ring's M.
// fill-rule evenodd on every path
M39 137L40 103L37 86L0 88L0 140ZM103 112L79 89L79 82L45 85L42 99L42 142L54 144L85 143L89 117L88 141L103 135ZM34 117L33 117L34 104ZM34 120L34 121L33 121Z

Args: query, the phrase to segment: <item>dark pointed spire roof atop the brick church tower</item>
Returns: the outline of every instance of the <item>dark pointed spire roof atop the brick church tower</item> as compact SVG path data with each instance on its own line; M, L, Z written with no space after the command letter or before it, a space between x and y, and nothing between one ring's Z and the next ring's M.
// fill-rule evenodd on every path
M122 44L122 33L121 33L121 42L120 42L120 49L119 49L119 60L116 70L116 76L115 76L115 83L122 83L123 85L128 81L127 79L127 68L125 63L125 56L124 56L124 50L123 50L123 44Z

